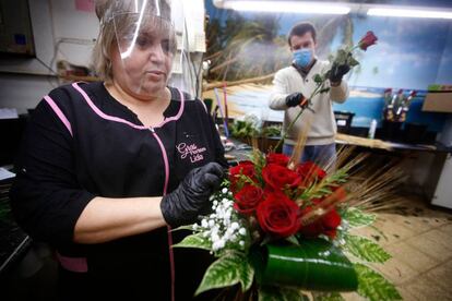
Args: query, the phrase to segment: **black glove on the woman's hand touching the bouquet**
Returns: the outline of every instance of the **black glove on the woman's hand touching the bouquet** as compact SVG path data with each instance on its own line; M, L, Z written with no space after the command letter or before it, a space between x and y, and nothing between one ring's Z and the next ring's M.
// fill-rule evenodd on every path
M162 198L165 221L171 227L195 222L199 213L210 205L209 197L222 183L223 174L217 162L190 170L179 186Z

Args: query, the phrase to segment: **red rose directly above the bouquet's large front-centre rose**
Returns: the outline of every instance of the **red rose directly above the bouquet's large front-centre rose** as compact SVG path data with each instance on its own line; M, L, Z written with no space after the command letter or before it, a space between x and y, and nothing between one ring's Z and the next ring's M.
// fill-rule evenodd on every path
M275 164L269 164L262 169L262 178L275 190L284 189L287 185L296 186L300 182L297 172Z

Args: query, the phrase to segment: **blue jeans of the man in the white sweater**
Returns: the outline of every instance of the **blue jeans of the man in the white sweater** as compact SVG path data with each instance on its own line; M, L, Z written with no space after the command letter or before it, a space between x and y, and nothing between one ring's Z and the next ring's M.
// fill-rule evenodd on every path
M284 144L283 154L292 156L294 153L294 145ZM300 161L313 161L320 167L325 167L330 161L333 162L332 166L335 166L336 162L336 144L325 144L325 145L306 145Z

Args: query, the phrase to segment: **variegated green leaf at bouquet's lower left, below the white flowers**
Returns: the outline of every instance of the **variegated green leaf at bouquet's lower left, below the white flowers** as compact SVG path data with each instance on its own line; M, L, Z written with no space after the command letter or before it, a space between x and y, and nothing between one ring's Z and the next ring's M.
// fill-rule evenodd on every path
M254 278L254 269L248 263L243 253L231 252L211 264L204 274L195 294L203 291L241 285L241 290L247 291Z

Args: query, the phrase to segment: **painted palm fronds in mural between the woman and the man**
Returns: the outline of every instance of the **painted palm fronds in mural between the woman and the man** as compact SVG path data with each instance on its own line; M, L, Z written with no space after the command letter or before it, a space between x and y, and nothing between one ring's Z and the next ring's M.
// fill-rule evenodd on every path
M224 26L218 20L212 22L207 28L207 59L212 61L209 79L237 81L282 67L282 55L289 53L279 53L285 41L277 36L278 28L277 16L246 20L233 11L228 11Z

